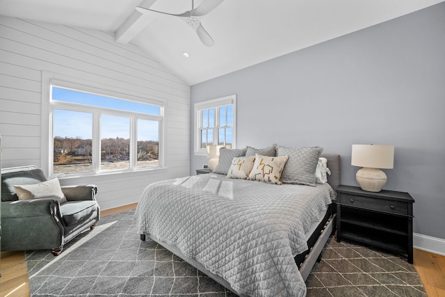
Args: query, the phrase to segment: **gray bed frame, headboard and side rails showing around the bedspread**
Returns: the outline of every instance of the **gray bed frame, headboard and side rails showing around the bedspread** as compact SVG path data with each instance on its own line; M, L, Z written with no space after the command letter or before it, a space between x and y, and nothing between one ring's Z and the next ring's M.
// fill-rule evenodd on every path
M337 190L337 187L340 184L340 155L322 154L321 156L327 159L327 167L331 171L331 175L327 177L327 182L332 186L334 190ZM302 254L300 255L296 255L296 264L298 266L300 274L302 275L303 280L307 279L315 263L320 262L321 252L323 251L327 240L335 231L335 216L335 205L334 203L332 203L327 210L325 218L318 225L312 236L310 236L308 240L308 250L306 252L302 252ZM184 255L176 246L165 243L152 234L148 234L148 236L150 239L163 246L165 249L170 250L170 252L177 255L188 264L191 264L191 266L208 275L209 278L212 278L219 284L222 284L224 287L237 294L236 290L233 289L230 286L229 282L227 282L224 278L220 277L220 275L211 273L200 262L197 262L195 259ZM145 241L145 234L140 234L140 240Z

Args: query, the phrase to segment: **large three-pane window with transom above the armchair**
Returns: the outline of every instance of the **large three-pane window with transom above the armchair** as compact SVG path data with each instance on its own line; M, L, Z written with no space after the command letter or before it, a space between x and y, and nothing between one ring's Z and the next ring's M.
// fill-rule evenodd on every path
M162 165L163 106L49 86L49 175L100 174ZM68 84L69 85L69 84ZM105 93L105 92L104 92Z

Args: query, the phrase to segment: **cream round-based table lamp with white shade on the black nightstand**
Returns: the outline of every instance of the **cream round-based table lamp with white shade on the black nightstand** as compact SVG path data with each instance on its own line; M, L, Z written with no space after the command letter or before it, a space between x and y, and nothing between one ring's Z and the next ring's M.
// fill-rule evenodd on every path
M394 168L394 145L353 145L352 166L360 166L355 178L364 191L380 192L387 175L380 169Z

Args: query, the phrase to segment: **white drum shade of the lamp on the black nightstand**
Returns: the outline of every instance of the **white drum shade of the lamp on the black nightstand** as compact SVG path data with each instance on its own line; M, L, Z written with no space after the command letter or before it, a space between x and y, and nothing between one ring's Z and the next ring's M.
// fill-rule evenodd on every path
M394 145L353 145L352 166L394 168Z

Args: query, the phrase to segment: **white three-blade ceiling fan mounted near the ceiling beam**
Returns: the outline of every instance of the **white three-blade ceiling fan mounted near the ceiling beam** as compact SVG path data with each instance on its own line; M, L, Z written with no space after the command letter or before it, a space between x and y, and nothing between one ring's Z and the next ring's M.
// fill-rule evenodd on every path
M175 17L179 17L182 19L188 26L191 26L191 28L197 33L197 36L200 38L202 43L204 45L207 45L207 47L211 47L215 44L213 42L213 39L211 38L210 34L204 29L204 27L201 24L201 19L207 15L207 13L210 13L211 10L215 9L216 6L220 5L221 2L224 0L203 0L201 5L195 8L194 1L192 0L192 9L186 11L185 13L181 13L180 15L174 15L172 13L163 13L158 10L152 10L149 8L143 8L143 7L136 7L136 10L140 13L147 13L148 11L152 11L154 13L161 13L163 15L173 15Z

